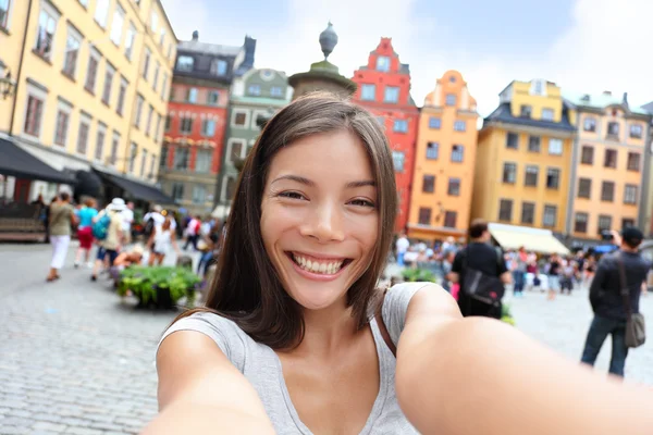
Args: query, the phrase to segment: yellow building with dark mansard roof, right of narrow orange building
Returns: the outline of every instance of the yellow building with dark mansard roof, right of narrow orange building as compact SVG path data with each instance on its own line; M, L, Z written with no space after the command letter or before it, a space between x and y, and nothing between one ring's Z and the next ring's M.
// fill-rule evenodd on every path
M555 84L508 85L479 132L472 217L564 233L574 122Z

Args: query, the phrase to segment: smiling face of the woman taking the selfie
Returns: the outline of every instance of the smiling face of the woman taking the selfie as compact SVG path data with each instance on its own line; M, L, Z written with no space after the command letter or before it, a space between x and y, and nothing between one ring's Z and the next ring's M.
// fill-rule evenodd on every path
M313 135L273 158L261 235L281 282L303 307L344 299L371 261L379 212L372 169L346 130Z

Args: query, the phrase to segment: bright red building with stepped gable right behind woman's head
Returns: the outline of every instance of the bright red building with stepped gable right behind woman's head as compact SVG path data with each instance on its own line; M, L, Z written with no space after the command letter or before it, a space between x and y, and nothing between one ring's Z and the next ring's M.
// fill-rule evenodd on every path
M399 62L391 38L370 53L368 63L354 73L358 85L354 101L378 116L393 151L399 213L396 231L404 231L410 207L410 187L415 165L415 146L419 111L410 97L410 70Z

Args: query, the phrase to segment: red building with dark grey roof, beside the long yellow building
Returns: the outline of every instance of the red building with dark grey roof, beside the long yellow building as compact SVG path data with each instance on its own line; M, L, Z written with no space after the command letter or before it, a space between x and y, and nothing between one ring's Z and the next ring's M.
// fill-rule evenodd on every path
M215 204L218 174L229 123L230 86L251 69L256 40L241 47L193 39L177 47L160 183L175 203L193 214L209 214Z

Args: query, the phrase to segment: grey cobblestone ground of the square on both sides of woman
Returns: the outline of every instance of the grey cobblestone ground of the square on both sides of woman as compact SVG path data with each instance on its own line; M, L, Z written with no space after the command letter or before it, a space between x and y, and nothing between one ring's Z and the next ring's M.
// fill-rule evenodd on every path
M1 435L133 434L156 414L155 348L175 313L121 303L108 282L72 269L72 254L62 279L46 284L48 246L0 245ZM587 291L509 303L521 331L579 359L591 319ZM642 306L653 319L653 295ZM603 371L608 353L609 343ZM627 376L653 385L653 344L631 352Z

